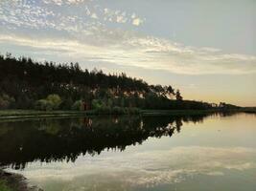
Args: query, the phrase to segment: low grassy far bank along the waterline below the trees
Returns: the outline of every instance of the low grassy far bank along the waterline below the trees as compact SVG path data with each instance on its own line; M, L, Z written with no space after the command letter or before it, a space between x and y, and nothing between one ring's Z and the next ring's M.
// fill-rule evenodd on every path
M184 115L204 115L217 112L243 112L256 114L255 108L244 108L236 110L139 110L139 113L133 115L142 116L184 116ZM0 119L16 118L36 118L36 117L83 117L100 115L95 111L35 111L35 110L0 110ZM104 114L111 115L111 114Z

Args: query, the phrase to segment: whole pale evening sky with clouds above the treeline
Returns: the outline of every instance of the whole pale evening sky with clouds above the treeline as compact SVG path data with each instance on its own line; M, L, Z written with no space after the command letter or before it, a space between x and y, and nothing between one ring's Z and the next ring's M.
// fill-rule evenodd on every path
M7 52L256 106L255 0L1 0Z

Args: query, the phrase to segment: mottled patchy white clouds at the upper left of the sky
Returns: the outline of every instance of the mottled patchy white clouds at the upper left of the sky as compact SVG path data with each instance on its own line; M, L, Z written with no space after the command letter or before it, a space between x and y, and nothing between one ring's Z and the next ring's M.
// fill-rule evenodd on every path
M8 29L54 29L72 32L75 31L72 29L79 28L82 31L93 25L95 20L99 20L98 24L101 25L112 22L133 26L130 15L127 11L102 8L92 0L43 0L39 3L0 1L0 24ZM75 19L67 19L70 17ZM138 19L143 20L139 17Z

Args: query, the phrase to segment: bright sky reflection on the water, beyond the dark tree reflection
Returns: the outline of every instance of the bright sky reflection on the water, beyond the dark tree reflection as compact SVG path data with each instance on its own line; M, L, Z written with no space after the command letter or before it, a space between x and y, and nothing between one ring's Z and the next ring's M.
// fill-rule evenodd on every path
M185 185L205 190L207 184L199 184L200 179L216 182L215 188L252 191L256 186L255 122L255 116L246 115L207 117L203 123L184 123L172 138L149 138L124 152L81 156L75 163L33 162L21 173L33 184L56 191L182 190Z

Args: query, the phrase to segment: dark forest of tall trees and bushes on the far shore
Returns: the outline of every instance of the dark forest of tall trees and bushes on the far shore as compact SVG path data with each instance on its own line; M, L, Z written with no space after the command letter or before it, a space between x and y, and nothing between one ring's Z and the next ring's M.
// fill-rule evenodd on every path
M222 103L223 105L224 103ZM170 86L149 85L126 74L81 70L78 63L36 62L0 55L0 109L87 110L122 108L209 109L213 104L183 100Z

